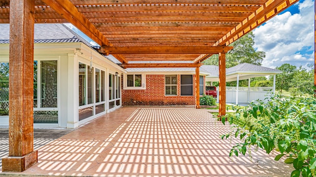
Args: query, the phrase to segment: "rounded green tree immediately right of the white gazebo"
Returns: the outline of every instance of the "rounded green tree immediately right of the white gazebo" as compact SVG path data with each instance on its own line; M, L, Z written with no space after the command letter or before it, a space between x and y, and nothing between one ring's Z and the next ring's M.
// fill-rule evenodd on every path
M276 89L280 90L280 94L282 94L282 90L288 91L291 87L291 81L295 75L297 68L294 65L285 63L282 64L280 67L276 67L276 69L282 71L282 73L276 74ZM273 78L270 77L270 79L272 80Z

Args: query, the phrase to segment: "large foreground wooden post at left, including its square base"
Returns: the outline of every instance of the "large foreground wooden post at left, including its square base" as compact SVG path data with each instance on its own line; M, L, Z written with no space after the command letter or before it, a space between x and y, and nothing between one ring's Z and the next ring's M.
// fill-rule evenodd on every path
M9 156L2 172L22 172L38 161L33 141L34 0L10 0Z

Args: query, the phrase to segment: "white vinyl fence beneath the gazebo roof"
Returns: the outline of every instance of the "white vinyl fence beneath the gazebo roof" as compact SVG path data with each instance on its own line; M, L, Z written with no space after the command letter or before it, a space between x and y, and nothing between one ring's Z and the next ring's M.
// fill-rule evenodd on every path
M237 87L226 87L226 103L236 104L236 93ZM264 100L265 98L270 98L272 94L273 87L250 87L250 90L248 90L248 87L239 87L238 103L248 103L258 99Z

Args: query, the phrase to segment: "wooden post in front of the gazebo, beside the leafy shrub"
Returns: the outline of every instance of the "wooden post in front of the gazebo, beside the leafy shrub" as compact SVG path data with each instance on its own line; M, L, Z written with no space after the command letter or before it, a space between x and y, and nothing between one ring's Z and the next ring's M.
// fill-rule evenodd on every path
M218 116L226 115L226 54L219 53L219 112Z

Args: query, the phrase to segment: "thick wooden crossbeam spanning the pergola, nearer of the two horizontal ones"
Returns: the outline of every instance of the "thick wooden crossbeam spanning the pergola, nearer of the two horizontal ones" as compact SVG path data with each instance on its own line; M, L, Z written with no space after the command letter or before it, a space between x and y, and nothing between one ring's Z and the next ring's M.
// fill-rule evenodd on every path
M102 46L98 52L109 54L218 54L232 46Z

